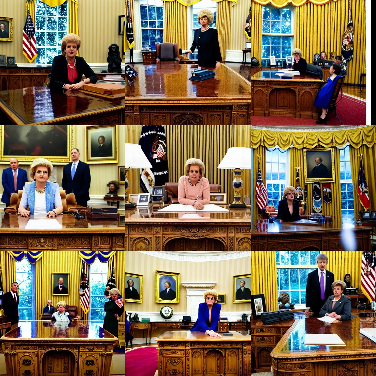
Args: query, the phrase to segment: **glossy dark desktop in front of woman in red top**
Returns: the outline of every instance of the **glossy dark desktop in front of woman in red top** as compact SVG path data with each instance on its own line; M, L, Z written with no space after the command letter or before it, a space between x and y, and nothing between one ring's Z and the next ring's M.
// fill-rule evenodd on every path
M125 106L125 98L107 99L77 90L53 92L47 86L0 91L0 109L18 125L62 120L94 111L99 114L120 106Z

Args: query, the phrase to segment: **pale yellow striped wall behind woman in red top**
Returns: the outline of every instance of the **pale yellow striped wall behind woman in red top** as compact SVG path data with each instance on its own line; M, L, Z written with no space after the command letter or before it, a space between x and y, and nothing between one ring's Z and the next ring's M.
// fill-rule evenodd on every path
M13 18L13 42L0 41L0 51L3 55L15 56L16 64L28 64L22 53L25 4L26 0L0 1L0 16ZM123 36L118 35L118 16L123 14L124 0L79 0L79 54L86 62L107 64L108 46L116 43L121 49Z

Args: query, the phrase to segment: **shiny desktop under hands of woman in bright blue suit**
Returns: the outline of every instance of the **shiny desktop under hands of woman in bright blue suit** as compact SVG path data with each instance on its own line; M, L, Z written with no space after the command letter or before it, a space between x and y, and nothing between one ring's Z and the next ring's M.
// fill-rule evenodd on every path
M217 332L218 333L218 332ZM158 341L250 341L249 331L230 331L232 335L210 337L198 331L168 331L161 333L155 340Z

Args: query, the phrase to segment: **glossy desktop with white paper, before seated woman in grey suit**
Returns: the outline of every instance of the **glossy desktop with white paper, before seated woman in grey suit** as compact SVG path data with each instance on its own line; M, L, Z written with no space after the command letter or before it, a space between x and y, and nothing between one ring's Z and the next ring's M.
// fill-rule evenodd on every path
M330 357L332 353L366 353L367 350L376 354L373 341L359 333L360 328L376 327L373 318L355 317L353 320L327 324L317 318L300 318L291 330L285 334L274 348L274 358L302 357L305 353ZM305 345L306 334L338 334L346 346ZM288 337L287 337L288 336Z

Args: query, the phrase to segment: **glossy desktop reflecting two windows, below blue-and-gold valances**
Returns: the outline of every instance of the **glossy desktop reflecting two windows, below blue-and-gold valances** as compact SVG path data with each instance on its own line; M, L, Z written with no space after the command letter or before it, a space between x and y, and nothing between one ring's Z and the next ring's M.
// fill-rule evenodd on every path
M114 340L117 338L92 321L73 320L68 326L64 323L52 321L23 321L18 327L12 329L1 338L4 340L20 340L26 343L35 339L58 339L59 341L69 340Z

